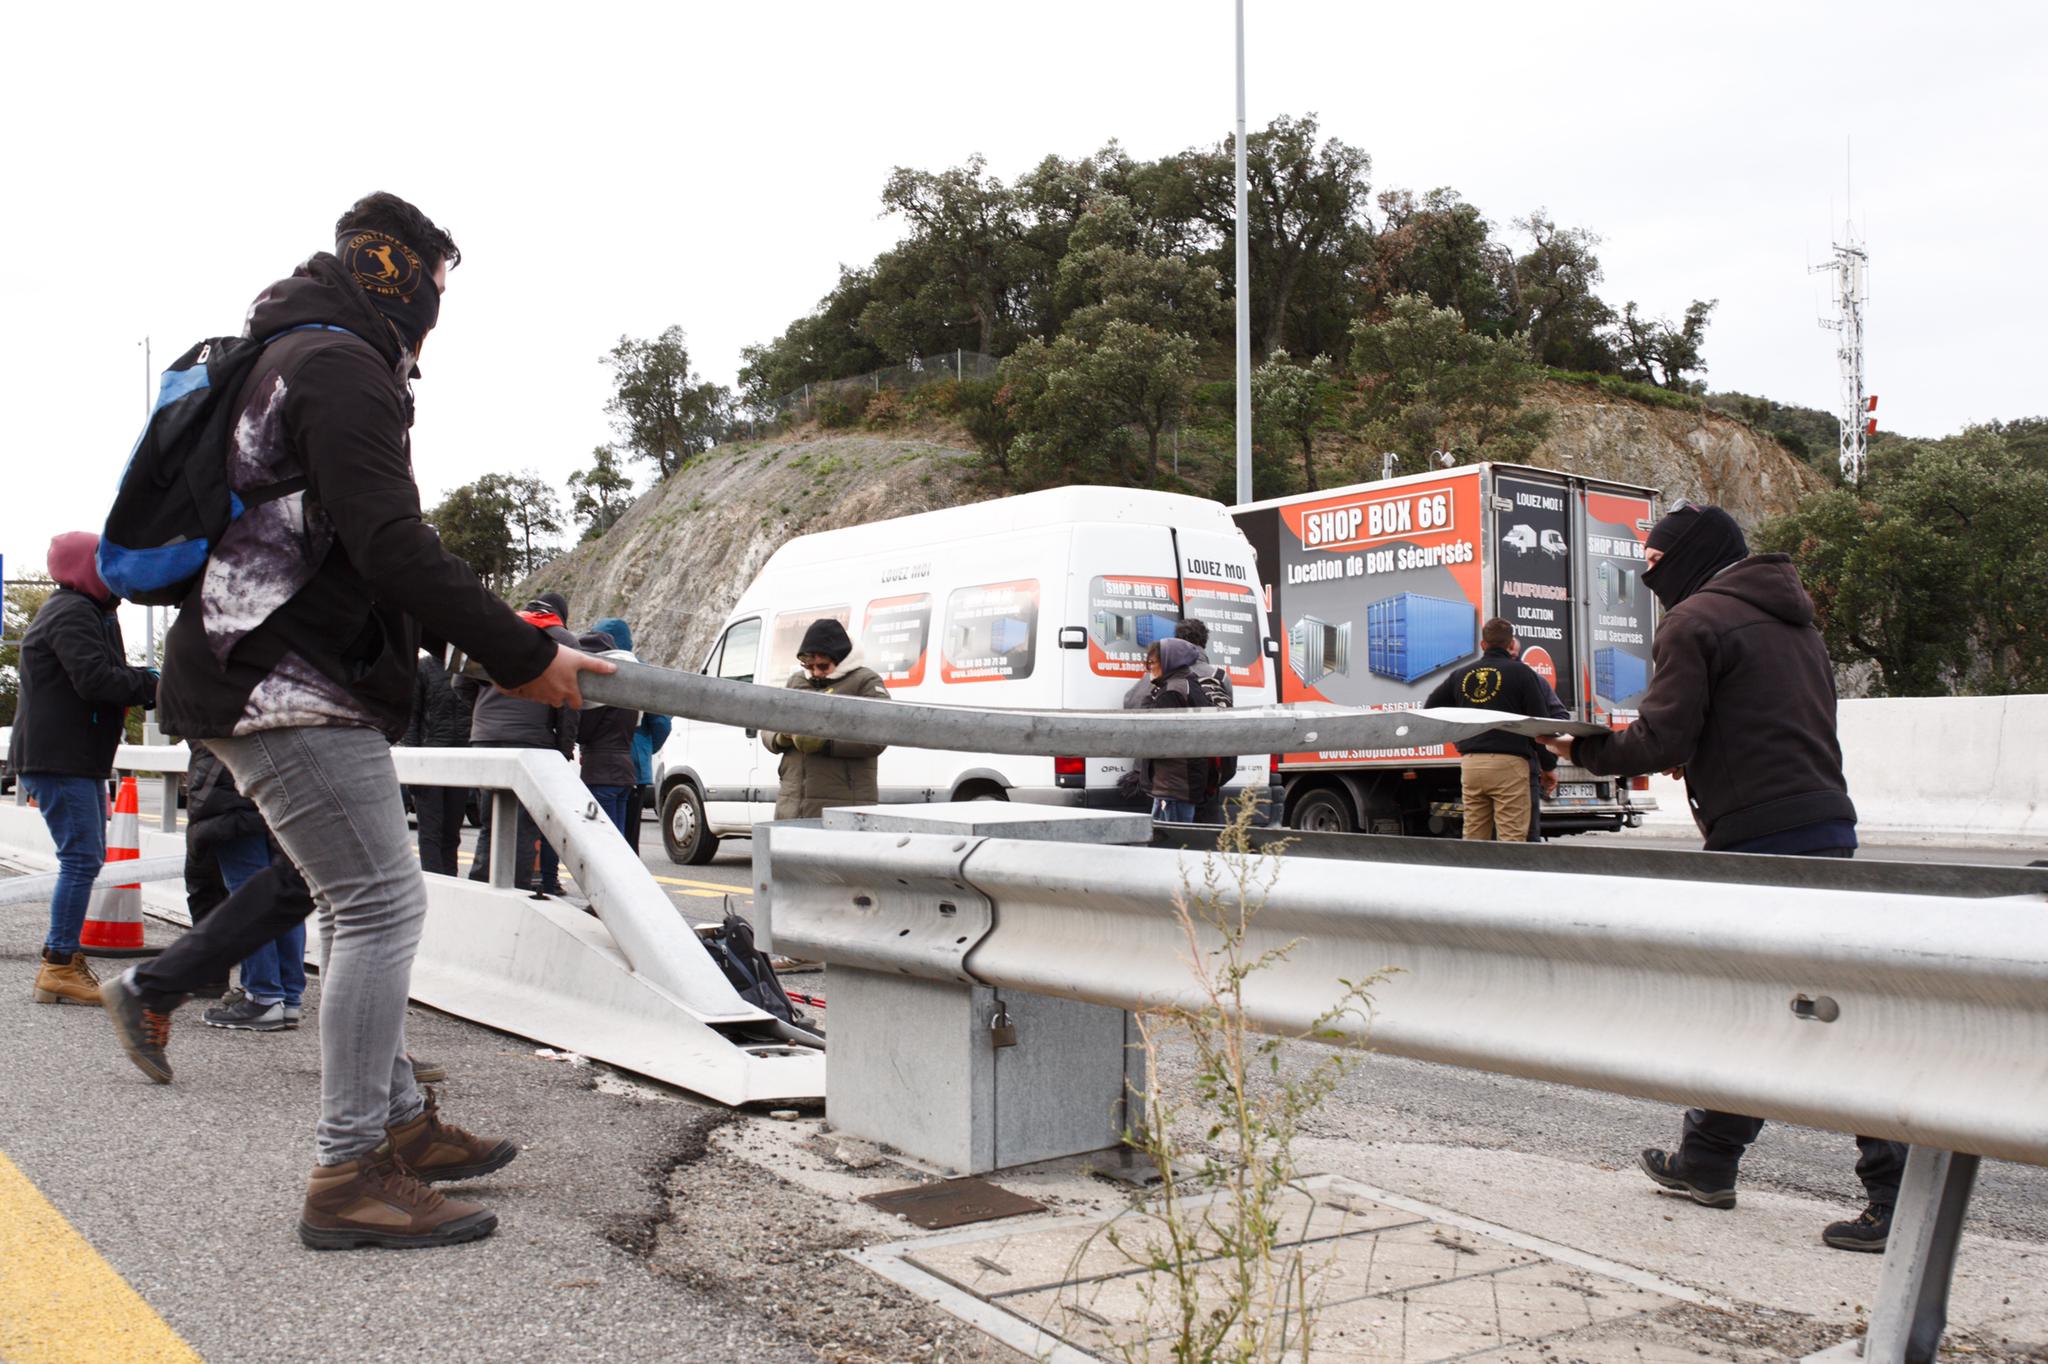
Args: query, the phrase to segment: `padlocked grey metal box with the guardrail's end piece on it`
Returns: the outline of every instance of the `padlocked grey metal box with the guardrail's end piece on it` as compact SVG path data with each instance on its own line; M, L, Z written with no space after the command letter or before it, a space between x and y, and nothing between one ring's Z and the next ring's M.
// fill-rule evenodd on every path
M1143 1088L1130 1014L975 981L1001 905L975 891L971 860L995 834L1143 844L1151 819L993 801L834 809L825 834L872 840L864 872L776 877L778 834L793 846L813 829L758 827L754 883L772 887L764 942L827 967L825 1120L958 1174L1120 1145Z

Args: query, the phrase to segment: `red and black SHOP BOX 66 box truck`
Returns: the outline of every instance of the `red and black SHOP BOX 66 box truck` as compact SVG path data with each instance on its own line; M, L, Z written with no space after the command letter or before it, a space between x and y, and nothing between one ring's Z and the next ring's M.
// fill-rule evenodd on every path
M1280 700L1421 707L1503 616L1573 719L1634 719L1651 680L1655 600L1640 586L1649 487L1552 469L1468 465L1233 508L1257 555ZM1362 666L1350 641L1364 639ZM1454 834L1458 750L1276 754L1296 829ZM1616 829L1655 809L1647 782L1561 766L1544 832Z

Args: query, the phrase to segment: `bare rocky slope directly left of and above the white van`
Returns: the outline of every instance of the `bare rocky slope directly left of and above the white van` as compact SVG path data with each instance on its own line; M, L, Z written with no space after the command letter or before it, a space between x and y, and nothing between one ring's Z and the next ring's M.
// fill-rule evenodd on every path
M717 446L514 596L555 588L575 623L623 616L641 659L696 668L782 541L979 502L991 494L973 469L963 444L897 434L803 430Z

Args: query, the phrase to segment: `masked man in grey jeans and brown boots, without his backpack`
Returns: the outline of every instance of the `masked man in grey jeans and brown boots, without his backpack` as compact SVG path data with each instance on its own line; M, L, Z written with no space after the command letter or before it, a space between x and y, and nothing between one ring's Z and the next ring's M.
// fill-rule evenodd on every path
M319 905L322 1116L299 1214L317 1249L485 1237L496 1214L428 1186L518 1155L442 1122L406 1057L426 883L389 745L422 629L545 705L580 705L578 676L612 670L512 614L420 518L410 381L459 260L420 209L371 195L342 213L332 254L256 297L248 334L266 348L227 449L248 506L166 643L164 727L209 741ZM137 1065L168 1079L174 1001L129 977L102 1001Z

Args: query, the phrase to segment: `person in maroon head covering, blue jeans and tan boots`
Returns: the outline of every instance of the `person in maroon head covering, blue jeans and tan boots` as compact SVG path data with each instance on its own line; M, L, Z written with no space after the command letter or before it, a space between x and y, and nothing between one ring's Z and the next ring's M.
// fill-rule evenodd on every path
M156 705L156 672L129 668L121 647L115 596L92 555L100 537L86 530L49 543L57 590L20 639L20 705L8 766L43 811L57 844L57 889L35 973L39 1004L98 1004L78 934L92 901L92 879L106 862L106 778L121 745L127 707Z

